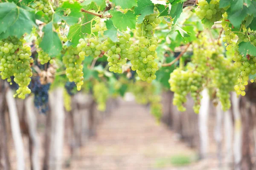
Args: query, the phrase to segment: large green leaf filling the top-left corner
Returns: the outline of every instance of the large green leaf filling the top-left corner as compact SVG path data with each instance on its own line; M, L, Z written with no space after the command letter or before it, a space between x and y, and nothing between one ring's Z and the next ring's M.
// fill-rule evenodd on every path
M21 37L30 33L35 23L35 11L18 7L14 3L0 3L0 38Z

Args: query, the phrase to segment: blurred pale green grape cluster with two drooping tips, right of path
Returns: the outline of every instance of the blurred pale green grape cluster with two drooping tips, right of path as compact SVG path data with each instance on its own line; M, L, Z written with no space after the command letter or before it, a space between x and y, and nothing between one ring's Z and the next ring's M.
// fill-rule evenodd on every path
M186 102L187 94L190 93L195 101L193 109L195 113L199 113L200 92L203 90L204 79L198 71L183 71L177 68L170 74L169 84L171 91L174 92L173 105L176 105L179 111L186 111L183 104Z

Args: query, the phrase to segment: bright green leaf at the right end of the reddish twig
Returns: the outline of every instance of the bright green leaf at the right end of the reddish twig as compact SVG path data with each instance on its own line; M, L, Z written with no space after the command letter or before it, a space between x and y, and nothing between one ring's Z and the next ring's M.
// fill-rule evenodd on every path
M132 11L128 11L125 14L120 11L111 11L113 24L120 31L125 31L128 28L133 29L136 25L136 17Z

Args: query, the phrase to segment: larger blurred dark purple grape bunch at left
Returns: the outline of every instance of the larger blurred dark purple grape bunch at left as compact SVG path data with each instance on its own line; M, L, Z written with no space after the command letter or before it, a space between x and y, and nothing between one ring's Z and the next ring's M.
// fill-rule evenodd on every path
M42 85L40 77L36 76L32 78L29 84L29 88L34 94L34 105L38 108L40 113L46 113L48 111L48 99L49 99L49 88L50 84Z

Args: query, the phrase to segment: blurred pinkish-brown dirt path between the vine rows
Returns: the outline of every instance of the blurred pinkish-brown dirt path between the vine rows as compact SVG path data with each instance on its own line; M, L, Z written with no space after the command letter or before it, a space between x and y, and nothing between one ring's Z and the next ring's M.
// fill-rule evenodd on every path
M134 102L120 102L80 154L69 170L186 170L171 162L177 156L196 156L172 131L158 125L145 106Z

